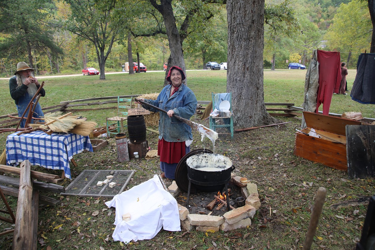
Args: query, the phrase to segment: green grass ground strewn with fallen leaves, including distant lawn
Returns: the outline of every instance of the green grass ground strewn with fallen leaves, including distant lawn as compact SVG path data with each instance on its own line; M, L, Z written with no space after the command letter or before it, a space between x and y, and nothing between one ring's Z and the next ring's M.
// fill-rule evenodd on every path
M300 106L303 102L305 73L306 70L265 70L265 101L291 102ZM114 74L106 75L105 81L100 81L98 76L49 78L45 87L46 97L41 98L40 103L42 106L50 106L63 100L159 92L164 74ZM355 70L349 70L348 76L348 88L351 89ZM210 100L211 91L226 91L224 70L188 71L187 79L198 100ZM15 105L9 96L8 81L0 82L0 114L13 113ZM353 102L349 95L334 95L330 112L347 111L361 111L364 117L374 118L372 106ZM82 112L82 115L103 124L105 118L112 116L113 112L91 111ZM199 117L193 117L192 120L208 127L208 121L200 121ZM294 156L294 127L300 125L300 120L284 117L279 120L292 123L236 133L233 140L220 136L215 144L215 153L226 155L233 160L237 175L247 177L258 186L262 205L251 227L231 232L208 232L207 235L196 231L184 234L162 230L152 240L138 241L122 247L118 241L111 238L114 209L105 210L107 207L104 202L107 199L73 196L66 198L43 192L43 195L62 199L62 204L58 207L40 205L37 235L45 245L38 243L37 248L301 249L314 204L314 195L318 187L323 186L327 189L327 197L312 249L354 249L362 232L367 209L366 202L358 202L358 199L374 195L374 180L348 180L344 171ZM205 147L212 150L212 144L208 140L200 141L198 132L194 131L193 138L192 149ZM5 148L5 139L6 133L0 134L1 150ZM151 149L157 148L155 134L147 132L147 140ZM83 169L134 169L135 175L128 184L128 188L131 188L152 178L154 174L160 174L157 159L117 162L115 140L112 138L108 142L108 146L95 153L83 152L76 155L74 158L78 168L72 168L73 177ZM33 169L61 174L61 171L41 167ZM65 180L63 185L68 186L69 183L71 180ZM7 200L16 211L17 199L7 196ZM2 205L0 209L4 210ZM92 216L94 211L99 211L99 215ZM61 224L60 229L54 229ZM0 225L0 229L11 227L7 223ZM10 249L12 236L5 235L1 239L0 249Z

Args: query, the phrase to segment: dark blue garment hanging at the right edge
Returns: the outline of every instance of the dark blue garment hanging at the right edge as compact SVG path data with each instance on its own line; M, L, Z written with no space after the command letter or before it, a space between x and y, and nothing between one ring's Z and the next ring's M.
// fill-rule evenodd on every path
M357 75L350 96L359 103L375 104L375 53L359 55Z

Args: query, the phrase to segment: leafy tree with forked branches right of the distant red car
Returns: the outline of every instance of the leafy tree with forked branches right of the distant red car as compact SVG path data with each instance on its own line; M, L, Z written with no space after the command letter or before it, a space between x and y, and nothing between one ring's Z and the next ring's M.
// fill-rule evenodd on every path
M98 57L99 79L105 79L105 61L113 43L121 39L117 35L126 28L126 9L117 0L64 1L71 6L65 28L93 43Z

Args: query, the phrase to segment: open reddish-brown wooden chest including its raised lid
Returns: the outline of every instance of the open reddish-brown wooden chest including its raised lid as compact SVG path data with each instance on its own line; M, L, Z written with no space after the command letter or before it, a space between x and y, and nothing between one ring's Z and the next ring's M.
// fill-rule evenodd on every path
M348 163L345 126L360 125L361 123L305 111L303 116L307 127L301 131L308 134L313 128L318 137L297 132L294 154L331 168L346 171Z

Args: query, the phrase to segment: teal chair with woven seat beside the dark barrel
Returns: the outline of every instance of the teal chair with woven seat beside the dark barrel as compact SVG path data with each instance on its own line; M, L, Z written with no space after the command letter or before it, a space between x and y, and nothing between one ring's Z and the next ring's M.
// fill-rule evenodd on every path
M133 97L117 97L117 116L107 118L107 136L110 134L124 133L124 127L127 127L127 110L132 107Z

